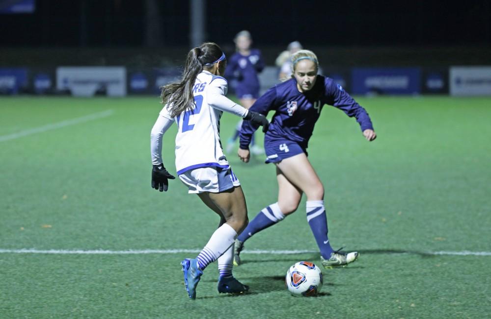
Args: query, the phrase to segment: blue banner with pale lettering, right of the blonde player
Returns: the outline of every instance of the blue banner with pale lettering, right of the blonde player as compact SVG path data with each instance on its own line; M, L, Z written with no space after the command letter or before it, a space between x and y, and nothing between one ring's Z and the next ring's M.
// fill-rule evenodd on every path
M354 68L353 94L419 94L419 68Z

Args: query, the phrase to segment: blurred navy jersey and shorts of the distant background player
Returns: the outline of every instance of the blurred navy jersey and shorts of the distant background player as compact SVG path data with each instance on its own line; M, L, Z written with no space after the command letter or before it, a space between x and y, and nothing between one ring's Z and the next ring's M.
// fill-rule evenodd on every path
M227 59L225 77L237 80L236 94L239 98L251 95L257 98L259 95L259 78L257 74L264 69L264 60L258 49L251 49L249 55L234 53Z

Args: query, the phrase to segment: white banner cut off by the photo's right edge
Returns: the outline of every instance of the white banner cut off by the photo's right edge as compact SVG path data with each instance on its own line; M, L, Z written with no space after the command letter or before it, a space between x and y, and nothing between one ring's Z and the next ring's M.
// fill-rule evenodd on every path
M491 95L491 66L451 67L450 95Z

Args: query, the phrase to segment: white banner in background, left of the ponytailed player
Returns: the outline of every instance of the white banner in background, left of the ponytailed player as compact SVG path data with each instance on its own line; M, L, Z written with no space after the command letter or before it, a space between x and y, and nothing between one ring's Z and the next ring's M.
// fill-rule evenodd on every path
M126 96L125 67L58 67L56 89L73 96L91 97L96 93L110 97Z

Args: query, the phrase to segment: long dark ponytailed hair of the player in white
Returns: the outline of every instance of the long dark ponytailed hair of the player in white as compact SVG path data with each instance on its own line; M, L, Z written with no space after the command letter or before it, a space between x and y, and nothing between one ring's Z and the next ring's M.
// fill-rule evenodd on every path
M182 80L161 87L162 104L169 104L170 114L173 117L192 108L194 105L192 87L196 76L203 69L208 69L208 64L217 61L222 53L220 47L213 42L203 43L199 48L191 49L186 58Z

